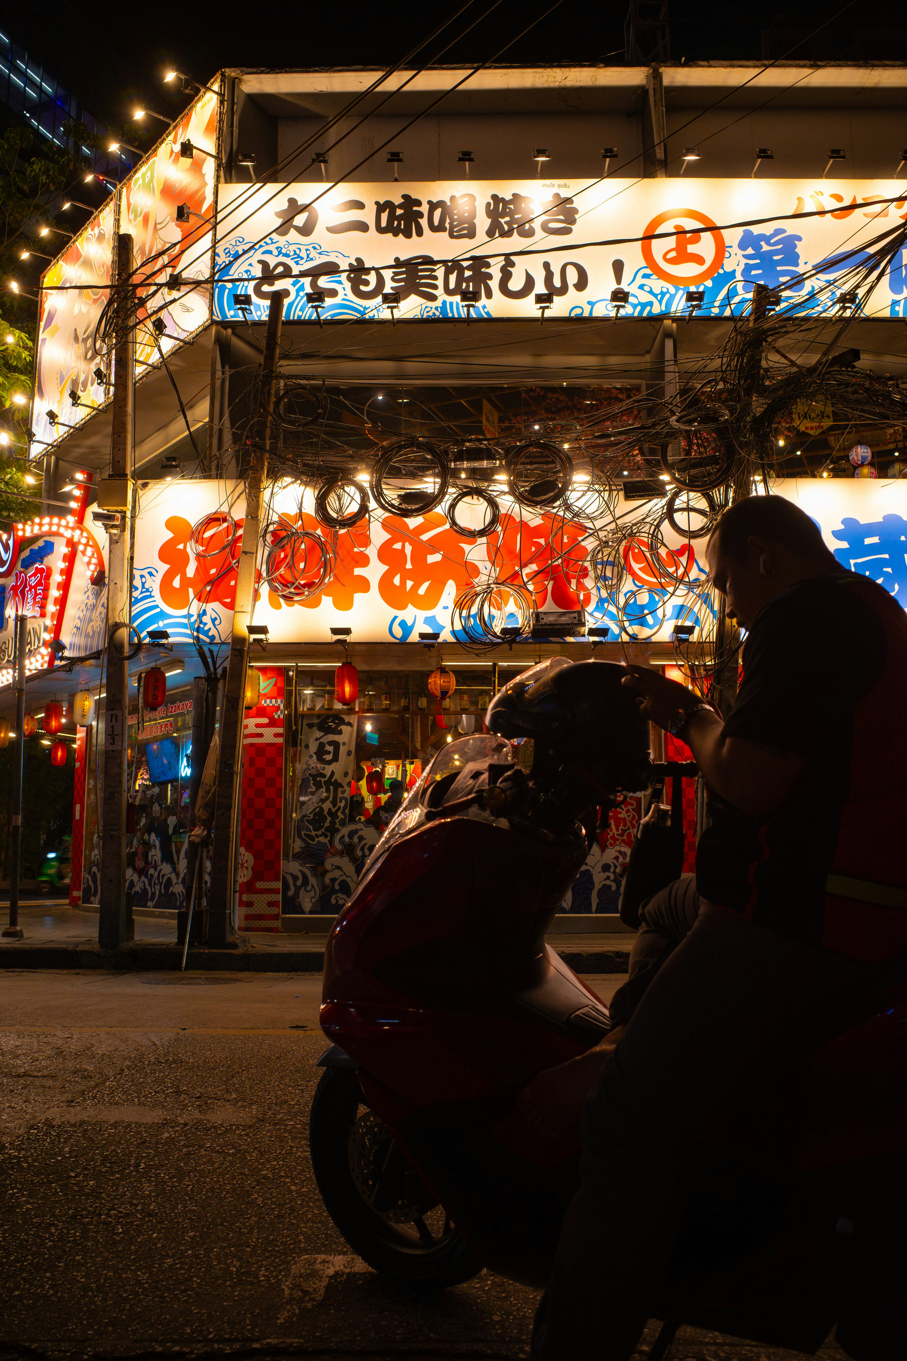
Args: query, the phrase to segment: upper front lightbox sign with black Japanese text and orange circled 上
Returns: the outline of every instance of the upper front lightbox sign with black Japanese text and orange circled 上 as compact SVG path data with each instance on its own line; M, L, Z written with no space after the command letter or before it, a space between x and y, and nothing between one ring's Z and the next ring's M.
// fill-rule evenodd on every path
M704 293L699 314L723 316L764 283L789 287L786 301L804 310L835 310L835 279L865 257L870 238L907 219L907 188L896 203L876 203L899 192L896 181L679 177L227 184L218 199L213 309L222 320L264 318L277 291L287 320L318 312L389 320L382 294L396 293L397 320L450 320L466 316L466 290L477 294L469 304L476 320L536 316L536 293L553 294L553 316L598 317L613 313L611 294L623 287L623 316L683 312L688 289ZM813 211L821 215L805 216ZM651 240L594 245L626 237ZM816 268L821 304L816 283L795 282ZM907 316L900 250L870 314Z

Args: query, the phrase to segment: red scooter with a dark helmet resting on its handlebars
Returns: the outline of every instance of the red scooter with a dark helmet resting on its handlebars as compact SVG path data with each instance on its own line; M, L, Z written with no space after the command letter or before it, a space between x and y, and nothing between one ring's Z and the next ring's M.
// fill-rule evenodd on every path
M578 1138L541 1142L515 1097L611 1026L544 935L598 810L653 778L623 675L556 657L507 685L490 734L427 768L330 934L311 1161L347 1243L396 1279L551 1270ZM836 1324L855 1361L904 1361L906 980L787 1037L695 1161L653 1361L681 1323L806 1353Z

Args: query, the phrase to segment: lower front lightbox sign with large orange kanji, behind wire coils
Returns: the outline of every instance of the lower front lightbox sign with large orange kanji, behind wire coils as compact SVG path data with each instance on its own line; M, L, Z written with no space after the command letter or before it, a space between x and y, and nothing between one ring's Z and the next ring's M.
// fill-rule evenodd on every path
M774 491L820 524L843 566L873 577L907 606L907 480L787 479ZM226 521L227 505L235 532ZM617 514L626 523L630 514L655 509L634 501ZM310 491L301 509L298 489L286 487L273 512L284 523L299 516L310 534L325 535L311 513ZM464 506L457 514L465 523ZM212 646L230 640L242 517L242 483L166 483L154 504L143 504L132 597L132 619L143 634L167 629L171 638L189 641L194 629L199 641ZM613 521L598 523L602 539L609 525ZM193 551L193 529L201 557ZM707 626L703 611L710 606L702 591L706 540L687 543L666 523L661 532L658 558L645 536L624 542L626 572L619 573L613 600L596 587L598 538L589 524L556 512L521 513L504 498L499 529L476 543L458 534L442 509L412 520L379 512L370 524L339 534L335 574L311 599L292 604L261 585L254 622L268 625L272 642L328 642L332 625L352 627L358 642L415 642L420 630L456 642L461 636L454 599L488 580L494 562L496 580L532 584L538 610L582 608L587 626L606 625L612 640L668 641L677 622ZM502 600L509 611L506 591ZM518 622L515 607L498 619L499 627Z

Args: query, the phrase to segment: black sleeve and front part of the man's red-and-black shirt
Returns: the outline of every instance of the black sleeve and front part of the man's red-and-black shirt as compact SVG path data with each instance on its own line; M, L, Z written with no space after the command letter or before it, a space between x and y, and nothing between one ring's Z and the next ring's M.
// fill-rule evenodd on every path
M850 572L816 577L753 619L723 732L797 753L804 772L768 819L710 793L711 825L696 848L704 898L810 943L821 940L825 876L850 788L854 708L878 683L888 655L866 589L887 595Z

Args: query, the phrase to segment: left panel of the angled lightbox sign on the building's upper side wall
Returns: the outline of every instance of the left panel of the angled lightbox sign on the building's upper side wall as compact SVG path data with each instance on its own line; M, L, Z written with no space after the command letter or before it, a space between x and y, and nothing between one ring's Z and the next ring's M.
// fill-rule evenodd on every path
M56 444L107 400L109 389L94 373L99 365L95 328L109 297L114 225L110 199L42 278L31 410L39 449Z

